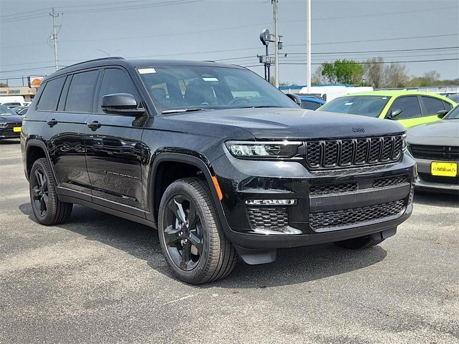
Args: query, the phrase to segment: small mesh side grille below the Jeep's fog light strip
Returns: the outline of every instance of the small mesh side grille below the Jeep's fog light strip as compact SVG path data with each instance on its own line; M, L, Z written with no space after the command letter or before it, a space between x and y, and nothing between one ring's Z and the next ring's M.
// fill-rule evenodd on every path
M248 208L250 226L262 229L282 229L288 226L287 208L259 207Z

